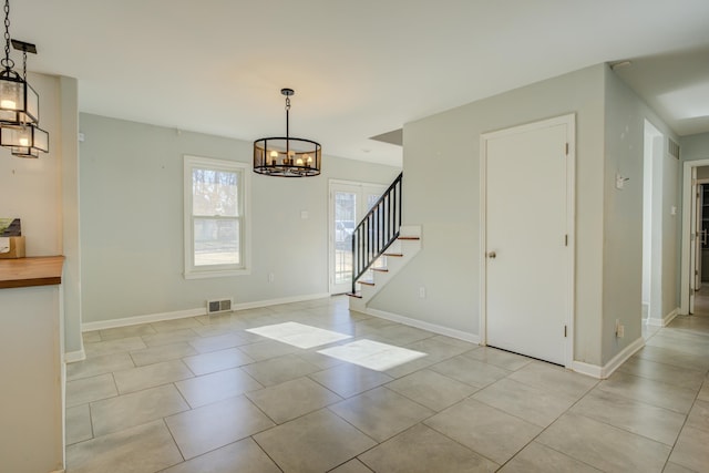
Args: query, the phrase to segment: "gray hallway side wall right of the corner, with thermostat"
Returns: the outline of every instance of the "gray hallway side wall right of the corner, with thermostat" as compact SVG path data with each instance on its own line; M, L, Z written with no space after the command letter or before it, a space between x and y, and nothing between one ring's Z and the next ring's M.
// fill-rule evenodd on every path
M641 337L643 282L643 160L645 121L664 135L659 173L654 173L654 197L658 199L654 214L653 244L659 255L659 317L678 307L677 265L679 210L679 161L667 153L667 137L677 141L671 130L643 100L606 68L605 72L605 210L604 210L604 298L603 362ZM616 174L629 178L623 189L616 188ZM653 299L655 300L656 294ZM625 337L616 338L616 320L625 326Z

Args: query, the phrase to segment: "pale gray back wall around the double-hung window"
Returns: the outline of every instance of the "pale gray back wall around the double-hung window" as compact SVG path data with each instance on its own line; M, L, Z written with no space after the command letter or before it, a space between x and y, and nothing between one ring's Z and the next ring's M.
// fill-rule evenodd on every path
M325 294L328 179L389 184L400 172L325 156L317 177L253 174L251 274L186 280L183 155L248 163L251 143L91 114L80 115L80 126L84 322L202 308L212 298L244 304Z

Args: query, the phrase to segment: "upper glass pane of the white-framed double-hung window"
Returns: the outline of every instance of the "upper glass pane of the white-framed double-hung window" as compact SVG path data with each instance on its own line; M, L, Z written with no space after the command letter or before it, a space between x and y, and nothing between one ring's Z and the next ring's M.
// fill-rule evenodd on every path
M235 172L193 168L193 215L239 216L238 181Z

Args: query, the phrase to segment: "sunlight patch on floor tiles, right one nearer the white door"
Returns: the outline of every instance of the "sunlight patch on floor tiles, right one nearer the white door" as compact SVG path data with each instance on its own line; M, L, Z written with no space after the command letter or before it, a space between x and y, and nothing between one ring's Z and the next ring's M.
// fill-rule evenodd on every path
M318 353L377 371L386 371L427 356L421 351L366 339L318 350Z

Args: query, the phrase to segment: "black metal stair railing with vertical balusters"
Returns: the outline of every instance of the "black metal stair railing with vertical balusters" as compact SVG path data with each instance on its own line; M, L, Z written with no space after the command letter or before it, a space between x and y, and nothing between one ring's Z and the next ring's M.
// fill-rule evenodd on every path
M357 280L399 238L402 177L399 174L352 233L352 294Z

